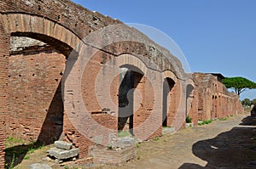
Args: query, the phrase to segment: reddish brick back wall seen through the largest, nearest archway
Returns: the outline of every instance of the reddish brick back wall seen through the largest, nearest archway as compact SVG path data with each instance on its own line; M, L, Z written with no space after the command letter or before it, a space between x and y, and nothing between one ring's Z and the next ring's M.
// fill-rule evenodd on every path
M11 52L6 137L13 135L26 142L38 140L45 144L61 137L61 76L65 62L65 56L48 45Z

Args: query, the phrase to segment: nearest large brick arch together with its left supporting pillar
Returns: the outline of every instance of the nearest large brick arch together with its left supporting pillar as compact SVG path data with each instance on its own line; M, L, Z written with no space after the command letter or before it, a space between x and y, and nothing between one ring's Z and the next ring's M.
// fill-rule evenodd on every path
M45 19L44 17L33 15L33 14L0 14L0 39L2 41L0 54L1 64L3 65L3 70L1 70L1 78L3 83L8 83L8 63L9 63L9 46L10 37L32 37L34 39L46 42L53 48L57 49L64 54L66 57L69 56L76 43L79 41L79 37L73 34L62 25L55 23L52 20ZM4 40L3 40L4 39ZM7 88L7 87L6 87ZM2 103L5 103L8 97L8 90L3 88L4 98L1 99ZM2 111L3 110L3 111ZM1 111L4 114L8 112L7 105L1 105ZM7 114L6 114L7 115ZM4 117L2 118L4 120ZM1 128L4 127L3 125ZM0 129L0 132L2 129ZM3 131L5 131L3 129ZM4 132L1 132L3 134ZM2 136L2 135L1 135ZM3 140L5 139L5 134L0 137L0 146L3 147ZM0 168L4 165L4 152L0 149Z

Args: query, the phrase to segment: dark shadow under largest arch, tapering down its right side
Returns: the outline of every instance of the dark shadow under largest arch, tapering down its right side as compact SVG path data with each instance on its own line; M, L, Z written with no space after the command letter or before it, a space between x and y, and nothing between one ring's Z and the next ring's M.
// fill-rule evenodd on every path
M61 42L58 39L55 39L54 37L49 37L47 35L35 33L35 32L12 32L11 37L30 37L32 39L36 39L41 42L45 42L47 45L49 45L51 48L54 48L57 50L59 53L63 54L67 58L72 58L68 59L69 62L65 66L65 69L61 71L61 76L63 75L63 72L67 73L73 68L74 63L76 62L78 58L78 53L70 47L67 43ZM59 139L61 137L61 132L63 128L63 111L64 111L64 105L63 105L63 100L62 100L62 87L63 83L65 82L67 76L62 76L61 81L58 84L58 87L56 88L56 91L54 93L53 99L51 100L49 104L49 109L47 109L47 115L44 119L44 124L42 126L42 130L38 136L38 142L44 143L44 144L52 144L55 140ZM64 81L64 82L63 82ZM62 83L63 82L63 83ZM60 117L55 117L55 109L58 109L61 111L61 118ZM60 115L59 115L60 116ZM48 138L45 137L45 135L50 135L46 134L49 132L49 127L47 126L49 124L49 121L58 121L58 124L55 124L56 126L61 127L61 132L53 132L55 133L55 138ZM58 130L60 131L60 130ZM52 134L52 133L51 133Z

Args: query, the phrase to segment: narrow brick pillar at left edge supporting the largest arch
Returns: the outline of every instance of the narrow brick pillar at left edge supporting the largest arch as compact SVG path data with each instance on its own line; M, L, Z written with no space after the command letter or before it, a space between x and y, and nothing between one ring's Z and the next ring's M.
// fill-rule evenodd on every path
M5 35L0 20L0 168L4 168L5 114L9 64L9 35Z

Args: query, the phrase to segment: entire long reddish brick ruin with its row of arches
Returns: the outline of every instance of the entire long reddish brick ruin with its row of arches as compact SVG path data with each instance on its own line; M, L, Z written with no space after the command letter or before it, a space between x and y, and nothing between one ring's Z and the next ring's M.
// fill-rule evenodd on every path
M63 139L86 157L118 131L145 140L184 127L187 115L196 125L242 111L220 74L186 74L119 20L68 0L0 4L0 168L9 136Z

